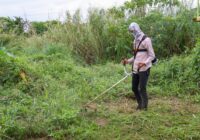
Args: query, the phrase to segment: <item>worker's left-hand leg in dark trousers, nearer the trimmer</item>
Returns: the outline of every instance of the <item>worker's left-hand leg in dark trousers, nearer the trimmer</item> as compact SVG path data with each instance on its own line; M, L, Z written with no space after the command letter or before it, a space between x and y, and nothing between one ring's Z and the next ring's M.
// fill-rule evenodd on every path
M134 92L135 98L138 103L137 109L141 109L142 108L142 98L141 98L138 88L139 88L139 75L133 74L133 76L132 76L132 91Z

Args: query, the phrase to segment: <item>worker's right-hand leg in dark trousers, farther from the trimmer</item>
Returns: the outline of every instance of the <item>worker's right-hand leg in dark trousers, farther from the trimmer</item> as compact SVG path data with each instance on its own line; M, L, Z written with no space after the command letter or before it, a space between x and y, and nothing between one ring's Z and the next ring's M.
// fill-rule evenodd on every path
M147 109L148 107L148 95L147 95L147 81L150 74L150 69L144 72L139 72L140 81L140 95L142 97L142 108Z

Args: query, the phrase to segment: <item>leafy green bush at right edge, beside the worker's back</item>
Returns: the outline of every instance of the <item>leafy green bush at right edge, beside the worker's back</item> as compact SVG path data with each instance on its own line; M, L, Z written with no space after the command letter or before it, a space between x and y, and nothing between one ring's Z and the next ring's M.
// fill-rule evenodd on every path
M195 99L196 102L199 102L199 53L198 42L191 54L187 56L173 56L168 60L161 61L161 64L153 67L150 78L152 88L160 87L163 90L163 93L170 95L195 95L198 99L193 99Z

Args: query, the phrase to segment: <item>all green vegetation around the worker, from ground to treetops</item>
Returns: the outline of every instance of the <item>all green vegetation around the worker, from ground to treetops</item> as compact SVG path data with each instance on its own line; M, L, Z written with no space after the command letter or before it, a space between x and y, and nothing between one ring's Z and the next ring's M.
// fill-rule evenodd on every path
M13 26L17 19L1 18L0 139L200 139L200 25L175 1L158 1L161 9L179 6L175 15L141 14L151 1L140 2L90 10L87 22L79 11L67 13L64 23L36 22L26 33ZM151 69L149 110L135 111L130 77L85 107L123 78L132 21L160 59Z

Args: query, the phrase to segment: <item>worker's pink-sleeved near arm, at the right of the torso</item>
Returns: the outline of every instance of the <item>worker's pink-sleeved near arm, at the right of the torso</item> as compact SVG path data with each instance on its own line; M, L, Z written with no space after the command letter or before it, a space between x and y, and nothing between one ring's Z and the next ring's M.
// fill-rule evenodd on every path
M151 61L155 58L155 53L154 53L150 38L146 39L145 48L147 49L148 57L144 63L145 63L145 65L147 65L147 64L151 63Z

